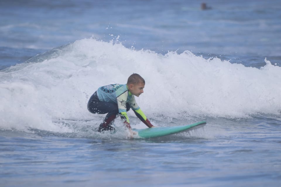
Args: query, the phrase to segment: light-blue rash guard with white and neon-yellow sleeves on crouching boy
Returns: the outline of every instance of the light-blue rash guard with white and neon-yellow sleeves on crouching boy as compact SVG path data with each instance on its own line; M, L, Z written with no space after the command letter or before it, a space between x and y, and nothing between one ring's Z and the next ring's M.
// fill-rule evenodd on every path
M126 118L128 123L130 123L130 121L126 112L126 103L130 105L139 118L142 118L141 120L143 122L147 120L147 117L136 103L135 96L131 94L126 84L101 86L97 90L97 96L102 102L117 103L119 113Z

